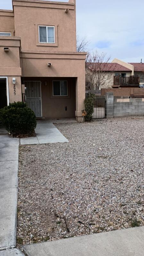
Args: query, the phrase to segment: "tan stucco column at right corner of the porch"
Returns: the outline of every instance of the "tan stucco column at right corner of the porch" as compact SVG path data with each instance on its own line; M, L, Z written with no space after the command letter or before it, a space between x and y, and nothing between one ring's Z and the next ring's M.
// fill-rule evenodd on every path
M85 99L85 74L81 74L76 79L76 111L75 116L78 122L82 121L82 109L84 109Z

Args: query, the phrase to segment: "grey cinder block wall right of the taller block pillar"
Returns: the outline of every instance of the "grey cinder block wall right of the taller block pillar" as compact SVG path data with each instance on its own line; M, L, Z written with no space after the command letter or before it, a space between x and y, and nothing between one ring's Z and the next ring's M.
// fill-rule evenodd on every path
M114 97L114 117L144 115L144 98Z

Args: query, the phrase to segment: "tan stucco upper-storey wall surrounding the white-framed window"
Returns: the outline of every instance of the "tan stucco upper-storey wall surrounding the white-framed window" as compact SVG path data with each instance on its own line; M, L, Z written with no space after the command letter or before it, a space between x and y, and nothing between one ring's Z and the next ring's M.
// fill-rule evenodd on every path
M38 7L38 3L36 6L33 6L33 3L30 3L30 6L14 5L15 35L21 36L22 49L76 51L75 10L70 9L68 13L65 13L65 9L50 8L47 3L45 3L47 8ZM57 39L58 46L51 44L48 47L42 43L37 45L38 25L56 27L55 39Z

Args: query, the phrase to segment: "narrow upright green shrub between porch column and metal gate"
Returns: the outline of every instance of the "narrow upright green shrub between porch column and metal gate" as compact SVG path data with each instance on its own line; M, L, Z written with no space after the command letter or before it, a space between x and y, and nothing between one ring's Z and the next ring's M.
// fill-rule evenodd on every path
M92 115L94 113L94 99L95 94L88 93L87 97L84 100L85 111L87 115L85 116L85 121L90 122L92 120Z

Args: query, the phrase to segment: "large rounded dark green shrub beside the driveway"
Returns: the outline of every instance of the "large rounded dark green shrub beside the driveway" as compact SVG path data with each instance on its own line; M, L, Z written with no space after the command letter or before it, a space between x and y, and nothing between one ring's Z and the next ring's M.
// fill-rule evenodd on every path
M0 109L0 120L13 136L30 136L37 125L34 112L26 103L19 101Z

